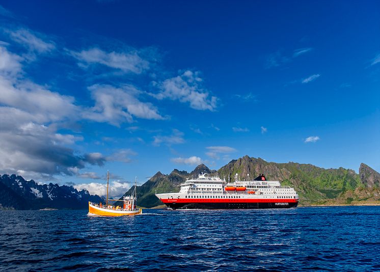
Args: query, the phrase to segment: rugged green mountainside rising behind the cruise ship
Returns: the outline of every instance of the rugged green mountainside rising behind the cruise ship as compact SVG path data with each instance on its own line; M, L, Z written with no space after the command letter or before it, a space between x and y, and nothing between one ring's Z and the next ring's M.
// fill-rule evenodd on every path
M277 164L261 158L244 156L231 160L218 171L199 165L193 172L174 170L169 175L157 172L143 185L138 186L138 205L155 207L162 203L154 196L157 193L178 192L186 178L196 177L201 172L216 172L222 179L233 181L235 174L241 180L253 179L263 173L267 180L279 180L282 185L294 187L300 196L300 206L307 205L360 205L380 204L380 174L361 164L359 174L350 169L323 169L310 164L288 162ZM248 177L249 174L249 177ZM131 190L126 194L129 195Z

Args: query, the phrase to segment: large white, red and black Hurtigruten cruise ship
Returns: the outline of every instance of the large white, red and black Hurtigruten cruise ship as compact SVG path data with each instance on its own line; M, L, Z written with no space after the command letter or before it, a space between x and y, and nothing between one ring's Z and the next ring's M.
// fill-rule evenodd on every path
M264 174L251 181L241 181L236 174L234 182L201 174L180 186L179 193L156 197L171 209L292 208L298 204L294 188L266 180Z

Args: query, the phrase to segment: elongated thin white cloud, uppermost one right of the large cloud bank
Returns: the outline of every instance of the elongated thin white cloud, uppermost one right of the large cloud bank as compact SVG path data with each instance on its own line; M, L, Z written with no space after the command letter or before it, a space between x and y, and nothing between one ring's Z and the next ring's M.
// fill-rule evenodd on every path
M141 74L149 69L149 62L139 56L135 49L126 52L105 52L100 48L91 48L80 52L69 51L79 61L79 66L104 65L125 73Z

